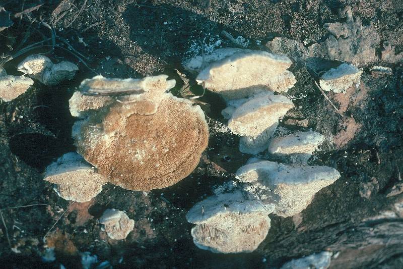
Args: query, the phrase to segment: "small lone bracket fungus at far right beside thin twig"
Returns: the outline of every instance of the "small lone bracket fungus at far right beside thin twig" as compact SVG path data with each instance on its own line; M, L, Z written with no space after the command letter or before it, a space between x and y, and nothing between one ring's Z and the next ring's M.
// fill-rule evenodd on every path
M325 91L335 93L346 92L353 85L360 85L362 71L352 64L341 64L323 73L319 81L320 87Z

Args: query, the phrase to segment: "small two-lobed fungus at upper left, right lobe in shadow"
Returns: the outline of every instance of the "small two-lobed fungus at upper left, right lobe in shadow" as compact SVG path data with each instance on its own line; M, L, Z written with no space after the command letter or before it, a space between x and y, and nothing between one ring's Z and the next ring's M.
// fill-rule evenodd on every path
M25 58L17 69L45 85L57 85L63 80L73 79L76 71L79 70L71 62L61 61L53 64L48 57L39 54Z

